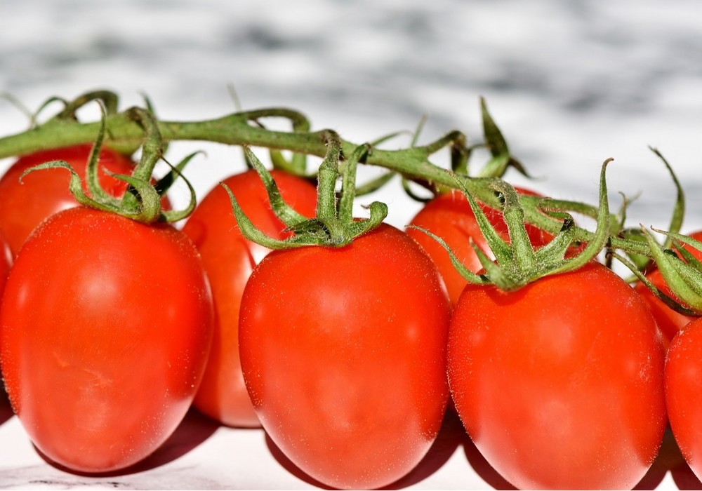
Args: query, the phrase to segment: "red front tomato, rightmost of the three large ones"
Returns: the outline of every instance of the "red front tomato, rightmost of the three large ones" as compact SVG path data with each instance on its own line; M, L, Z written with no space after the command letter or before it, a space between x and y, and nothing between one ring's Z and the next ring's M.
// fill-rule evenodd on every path
M664 351L633 288L602 264L515 292L468 285L449 386L496 471L521 489L631 489L665 431Z

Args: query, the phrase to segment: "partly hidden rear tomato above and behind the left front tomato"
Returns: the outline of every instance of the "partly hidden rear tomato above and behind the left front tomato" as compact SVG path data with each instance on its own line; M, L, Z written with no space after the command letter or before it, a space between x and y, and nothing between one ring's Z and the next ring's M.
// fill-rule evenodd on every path
M20 156L0 178L0 234L8 241L13 256L17 255L27 236L46 217L60 210L78 206L68 189L70 176L65 169L34 172L23 177L22 183L20 175L40 163L64 160L83 176L91 148L91 144L79 144ZM98 176L102 188L112 196L119 197L124 194L126 182L107 175L105 169L112 173L130 175L134 163L128 157L107 147L100 150ZM87 192L85 184L84 190ZM164 206L169 207L165 199Z

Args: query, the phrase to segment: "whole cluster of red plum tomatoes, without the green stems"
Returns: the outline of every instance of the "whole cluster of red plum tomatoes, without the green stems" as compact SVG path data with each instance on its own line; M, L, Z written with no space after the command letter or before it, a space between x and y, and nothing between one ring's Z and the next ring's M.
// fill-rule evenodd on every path
M0 180L2 375L29 438L58 466L125 469L192 405L227 426L262 426L324 485L385 487L423 459L449 408L516 487L630 489L668 421L702 476L702 321L604 264L504 291L468 283L416 228L271 251L241 233L220 186L178 229L78 206L60 170L18 180L49 160L80 168L90 151L23 156ZM110 173L128 174L130 159L103 149L100 165L107 193L128 192ZM272 177L314 217L314 185ZM257 229L293 234L255 171L225 184ZM482 210L508 240L502 214ZM490 251L461 192L439 194L411 225L484 272L475 248ZM553 238L527 232L534 248Z

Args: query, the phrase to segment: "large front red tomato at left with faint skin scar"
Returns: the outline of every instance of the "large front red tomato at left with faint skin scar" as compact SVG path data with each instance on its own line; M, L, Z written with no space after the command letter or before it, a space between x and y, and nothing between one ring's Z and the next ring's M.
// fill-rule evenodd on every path
M211 335L211 293L190 240L83 207L32 234L0 307L13 409L48 459L86 473L123 469L168 438Z

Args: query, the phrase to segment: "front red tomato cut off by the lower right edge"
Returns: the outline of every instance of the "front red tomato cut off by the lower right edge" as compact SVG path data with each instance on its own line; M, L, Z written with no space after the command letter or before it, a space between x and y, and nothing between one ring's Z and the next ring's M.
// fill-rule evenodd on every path
M690 469L702 479L702 318L673 337L665 358L670 429Z

